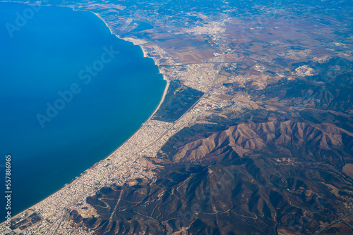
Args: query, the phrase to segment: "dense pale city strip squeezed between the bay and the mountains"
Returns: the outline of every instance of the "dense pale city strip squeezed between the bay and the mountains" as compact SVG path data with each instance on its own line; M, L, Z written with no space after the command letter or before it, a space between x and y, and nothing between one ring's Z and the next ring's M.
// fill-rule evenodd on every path
M162 55L165 53L158 48L155 49L155 52L160 52ZM159 56L162 56L161 54ZM221 60L222 58L215 58L214 60L218 67L222 65ZM202 118L209 115L212 110L225 107L232 110L234 108L241 110L251 106L256 107L256 104L252 104L253 102L249 99L227 101L217 96L222 94L222 91L217 87L211 89L219 72L215 70L213 62L187 65L186 72L175 76L174 74L178 73L178 69L172 68L168 72L163 70L161 72L166 80L172 78L184 80L189 87L206 92L193 108L174 123L157 120L145 122L138 132L131 136L112 155L80 174L71 184L66 185L52 196L15 217L13 227L16 227L16 229L13 229L11 233L92 234L92 231L86 231L81 227L78 229L72 227L70 222L65 220L68 218L68 211L82 211L82 208L85 208L83 211L89 210L88 215L92 215L92 211L94 212L95 209L86 203L85 198L93 196L97 189L112 184L125 184L137 178L152 179L153 173L151 170L153 167L149 166L151 163L144 159L146 157L155 158L157 152L171 136L184 127L202 122ZM36 219L40 222L31 225L31 221ZM22 227L26 229L23 231ZM2 224L0 232L6 233L6 231L4 224Z

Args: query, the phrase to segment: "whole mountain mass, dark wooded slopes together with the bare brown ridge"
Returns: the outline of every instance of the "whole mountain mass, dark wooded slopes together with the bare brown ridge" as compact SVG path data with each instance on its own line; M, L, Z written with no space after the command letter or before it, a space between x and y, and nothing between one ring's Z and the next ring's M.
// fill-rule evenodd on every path
M349 212L353 179L340 165L352 161L353 135L344 129L273 121L182 133L193 141L163 148L155 181L101 189L88 198L100 217L73 210L72 220L96 234L312 234Z

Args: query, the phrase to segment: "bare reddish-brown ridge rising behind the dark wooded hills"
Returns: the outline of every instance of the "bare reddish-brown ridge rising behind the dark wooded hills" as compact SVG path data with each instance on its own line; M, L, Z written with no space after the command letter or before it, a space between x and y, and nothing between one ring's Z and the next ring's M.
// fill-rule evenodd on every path
M213 160L229 151L234 151L239 156L256 151L272 151L283 157L312 158L315 151L336 152L344 143L347 151L352 153L352 141L352 133L329 124L316 125L291 120L251 122L229 127L208 138L186 144L172 159L174 162ZM340 159L335 160L340 162Z

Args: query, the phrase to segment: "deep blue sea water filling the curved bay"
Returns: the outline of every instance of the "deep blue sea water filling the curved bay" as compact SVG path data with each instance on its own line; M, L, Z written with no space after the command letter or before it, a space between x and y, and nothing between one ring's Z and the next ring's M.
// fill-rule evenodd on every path
M0 189L11 154L12 215L123 144L165 88L152 59L93 13L30 9L0 3Z

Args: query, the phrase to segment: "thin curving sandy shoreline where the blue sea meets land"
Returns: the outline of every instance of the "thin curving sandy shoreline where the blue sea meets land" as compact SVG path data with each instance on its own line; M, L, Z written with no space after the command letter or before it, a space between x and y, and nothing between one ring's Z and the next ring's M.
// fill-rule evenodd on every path
M4 3L8 3L9 1L0 1L0 2L4 2ZM17 3L17 4L24 4L24 5L28 5L28 6L32 6L32 5L35 5L35 4L30 4L28 2L18 2L18 1L13 1L11 3ZM47 6L47 5L40 5L40 6ZM71 6L51 6L51 7L64 7L64 8L71 8L73 11L88 11L88 10L80 10L80 9L77 9L77 8L74 8L74 7L71 7ZM100 16L100 14L98 13L95 13L95 12L92 12L92 11L88 11L90 13L93 13L95 15L97 15L98 18L100 18L100 20L102 20L104 22L104 24L108 27L109 31L111 34L114 34L114 32L112 31L111 27L109 27L109 25L107 24L107 22L105 22L105 20ZM123 38L120 38L118 35L114 34L115 37L117 37L118 39L122 39L126 42L131 42L131 41L128 41L126 39L123 39ZM131 42L133 43L133 42ZM152 57L149 57L147 56L147 53L145 53L145 50L143 49L143 46L139 45L139 44L135 44L133 43L133 45L136 45L136 46L140 46L140 49L141 51L143 51L143 57L146 57L146 58L152 58ZM152 60L154 61L155 65L157 65L156 61L154 58L152 58ZM157 65L158 67L158 70L160 72L160 66ZM162 74L160 72L160 74ZM146 122L148 122L149 120L151 120L151 118L153 117L153 115L155 115L155 113L157 112L157 110L159 110L160 106L162 105L164 99L165 99L165 96L167 95L167 91L168 91L168 88L169 88L169 80L167 80L164 75L162 74L162 77L163 77L163 80L165 80L167 82L165 88L164 88L164 91L163 91L163 94L162 94L162 98L160 100L160 103L158 103L158 106L155 108L155 110L153 111L153 113L148 117L148 119L146 119L144 122L141 123L140 127L138 129L136 129L136 132L133 132L133 134L131 134L131 136L128 137L128 139L126 139L123 143L121 143L118 147L116 147L114 149L114 151L112 151L112 153L109 153L106 157L102 158L101 160L97 161L96 163L94 163L91 167L87 168L86 170L84 170L83 172L81 172L80 174L78 174L78 176L76 176L74 179L71 180L71 182L68 182L66 184L64 184L64 186L61 186L61 188L59 188L58 190L54 191L54 193L51 193L49 196L46 196L44 198L42 198L40 201L38 201L37 203L31 205L29 208L26 208L25 210L22 210L21 212L19 212L18 214L16 215L13 215L11 216L11 220L13 219L16 219L17 217L20 217L21 215L23 215L24 212L28 211L28 210L32 210L33 212L35 212L34 208L36 205L38 205L39 203L41 203L42 201L44 201L45 199L47 198L50 198L51 196L54 196L55 193L58 193L59 191L63 190L63 189L66 189L67 187L71 186L71 184L75 183L80 177L82 177L84 174L86 174L86 172L92 168L95 168L97 163L100 163L101 161L103 160L107 160L107 158L111 158L111 156L119 149L121 148L121 146L124 146L124 144L129 140L131 139L133 136L135 136L135 134L140 131L141 127L143 127L143 125L145 125ZM6 222L6 220L4 220L3 222L0 222L0 225L3 225L4 223Z

